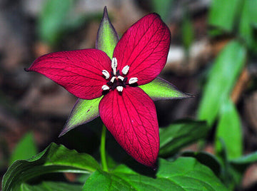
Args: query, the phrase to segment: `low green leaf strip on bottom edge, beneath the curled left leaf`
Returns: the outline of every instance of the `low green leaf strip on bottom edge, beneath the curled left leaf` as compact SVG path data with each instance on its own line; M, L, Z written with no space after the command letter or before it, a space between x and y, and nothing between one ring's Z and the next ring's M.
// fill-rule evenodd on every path
M76 191L82 190L83 185L71 184L66 182L50 182L44 181L39 184L29 185L21 184L22 191Z

